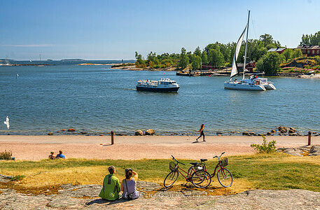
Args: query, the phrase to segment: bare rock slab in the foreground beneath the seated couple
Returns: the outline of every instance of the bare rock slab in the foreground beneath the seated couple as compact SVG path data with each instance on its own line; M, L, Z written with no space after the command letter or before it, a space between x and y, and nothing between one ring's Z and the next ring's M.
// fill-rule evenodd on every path
M9 182L0 176L0 182ZM0 209L319 209L320 193L309 190L248 190L236 195L210 195L219 189L164 190L157 183L138 181L141 196L137 200L100 199L102 186L65 184L57 192L18 193L0 189ZM224 188L222 192L228 192Z

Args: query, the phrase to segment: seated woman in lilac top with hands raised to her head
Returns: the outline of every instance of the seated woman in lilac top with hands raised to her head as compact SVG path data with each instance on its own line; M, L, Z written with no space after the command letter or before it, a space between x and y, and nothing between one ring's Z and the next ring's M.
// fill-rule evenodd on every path
M133 200L139 197L139 192L136 190L137 181L138 173L134 172L132 169L125 169L125 179L123 179L123 181L121 182L123 199Z

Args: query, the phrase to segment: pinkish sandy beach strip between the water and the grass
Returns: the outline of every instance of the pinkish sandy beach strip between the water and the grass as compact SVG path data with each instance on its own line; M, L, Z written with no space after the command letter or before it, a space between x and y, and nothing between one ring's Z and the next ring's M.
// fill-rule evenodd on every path
M210 136L206 142L193 144L196 137L188 136L0 136L0 151L12 151L16 160L42 160L50 151L62 150L67 158L139 160L211 159L225 151L225 155L254 153L250 144L262 141L261 137ZM307 145L307 137L267 137L276 140L276 146L293 147ZM320 137L312 137L312 144L320 144Z

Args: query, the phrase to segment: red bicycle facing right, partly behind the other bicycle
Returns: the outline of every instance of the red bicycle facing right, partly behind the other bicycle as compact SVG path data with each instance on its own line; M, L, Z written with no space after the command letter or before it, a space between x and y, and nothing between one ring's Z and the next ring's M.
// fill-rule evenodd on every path
M221 156L224 154L225 152L221 153L220 156L215 155L214 158L218 158L218 163L216 165L216 167L214 168L214 173L211 174L211 179L214 177L214 175L217 176L218 178L218 182L221 184L221 186L228 188L230 186L232 186L233 183L233 176L231 174L231 172L226 169L225 167L228 165L228 158L223 158L222 160L220 160ZM192 164L193 169L191 169L192 167L189 168L189 170L194 170L195 168L199 169L199 170L203 170L205 172L207 172L207 167L205 165L205 161L207 161L207 159L200 159L201 162L190 162L190 164ZM218 169L218 172L216 174L216 169L220 167L220 169ZM188 170L188 172L189 172Z

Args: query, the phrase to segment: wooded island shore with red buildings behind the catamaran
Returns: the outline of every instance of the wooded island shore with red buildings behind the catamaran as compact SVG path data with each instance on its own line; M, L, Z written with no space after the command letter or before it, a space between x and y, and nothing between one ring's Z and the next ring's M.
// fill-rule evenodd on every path
M216 42L209 43L203 50L197 47L193 52L187 52L182 48L180 54L166 52L156 55L155 52L150 52L146 59L135 52L134 64L118 64L112 67L127 70L177 71L189 75L201 71L230 72L235 45L235 42ZM237 59L240 65L244 62L244 45L243 43ZM263 34L259 39L249 39L247 55L249 64L253 66L252 71L263 72L266 76L298 76L310 71L320 73L319 45L320 31L310 35L303 34L298 48L293 49L282 47L270 34ZM312 46L313 51L308 50Z

